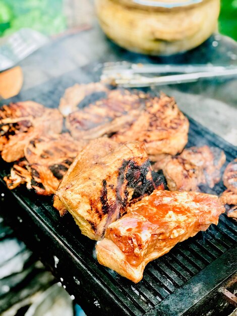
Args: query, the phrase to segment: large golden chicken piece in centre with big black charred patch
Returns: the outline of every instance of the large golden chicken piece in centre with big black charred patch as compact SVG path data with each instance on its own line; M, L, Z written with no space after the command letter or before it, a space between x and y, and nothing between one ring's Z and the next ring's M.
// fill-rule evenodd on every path
M78 161L79 171L80 157ZM95 240L126 212L133 197L145 194L153 183L150 161L140 142L116 146L87 169L79 173L77 170L73 172L74 178L70 175L55 194L72 214L82 234Z

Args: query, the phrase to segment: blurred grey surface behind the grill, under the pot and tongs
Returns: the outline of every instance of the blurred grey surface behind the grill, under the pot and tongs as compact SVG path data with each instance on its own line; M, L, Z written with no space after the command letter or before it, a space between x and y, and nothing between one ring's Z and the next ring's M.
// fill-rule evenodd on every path
M96 65L98 61L237 66L237 43L219 34L213 35L204 44L186 54L169 58L147 57L128 52L106 38L97 23L91 2L86 5L87 0L82 1L81 8L84 10L77 14L77 18L81 19L82 23L87 23L89 29L51 40L22 61L20 66L24 72L23 90L70 71L80 71L80 67ZM236 78L224 79L222 82L206 80L162 86L156 90L173 95L182 111L228 142L237 145Z

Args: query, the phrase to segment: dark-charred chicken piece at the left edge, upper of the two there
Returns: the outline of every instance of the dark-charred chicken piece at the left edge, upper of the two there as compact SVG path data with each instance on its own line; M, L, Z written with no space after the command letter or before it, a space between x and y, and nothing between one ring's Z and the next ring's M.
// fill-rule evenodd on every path
M31 138L60 133L63 117L56 109L46 109L33 101L10 103L0 109L0 151L3 159L14 162L24 156Z

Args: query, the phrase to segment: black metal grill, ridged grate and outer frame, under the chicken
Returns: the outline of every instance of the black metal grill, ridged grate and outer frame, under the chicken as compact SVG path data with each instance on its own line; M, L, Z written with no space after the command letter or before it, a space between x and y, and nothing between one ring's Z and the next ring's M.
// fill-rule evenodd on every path
M82 80L92 80L87 70L84 75L80 72L80 79L77 72L70 73L22 92L11 101L32 99L55 107L65 88ZM227 158L223 172L227 163L237 156L236 148L192 118L189 117L189 120L187 146L207 144L223 149ZM58 279L64 279L66 289L88 315L95 312L131 316L188 314L198 302L236 273L233 262L234 255L237 255L234 247L237 229L231 219L221 215L217 227L212 225L207 232L176 245L167 254L152 261L145 269L143 280L135 285L98 264L93 256L94 242L81 235L69 215L60 218L52 207L51 198L36 196L26 188L8 190L3 176L8 173L9 164L2 161L0 165L0 193L5 194L3 207L1 205L3 216L52 273ZM220 194L224 186L220 182L213 190L204 190ZM58 264L55 256L59 259ZM210 272L221 262L225 262L226 269L220 270L205 284L204 280L210 278ZM195 284L201 284L198 295Z

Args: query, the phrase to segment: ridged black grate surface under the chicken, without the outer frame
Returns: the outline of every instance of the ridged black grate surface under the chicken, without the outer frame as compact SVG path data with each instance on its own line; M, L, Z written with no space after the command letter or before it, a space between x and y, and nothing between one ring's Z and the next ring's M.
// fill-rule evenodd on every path
M38 89L20 94L20 99L33 99L48 107L55 107L65 88L75 82L92 80L87 72L70 73L60 79L50 81ZM40 91L40 94L39 92ZM13 98L18 100L18 98ZM190 119L189 143L187 146L207 144L222 148L230 162L236 156L236 150L222 139L209 132ZM223 167L223 169L225 168ZM3 164L1 176L9 172ZM204 188L205 189L205 188ZM206 188L207 192L210 189ZM219 194L224 190L222 182L213 188ZM218 226L211 225L206 232L177 244L169 253L150 262L145 269L144 278L138 284L118 276L115 272L102 267L93 256L94 242L80 234L73 219L65 216L61 219L52 207L51 198L36 197L25 188L12 192L20 201L24 201L32 210L35 221L44 223L57 236L65 247L87 267L92 277L98 279L130 315L143 315L162 302L168 295L175 293L199 272L236 245L236 226L226 215L221 215Z

